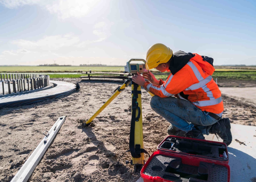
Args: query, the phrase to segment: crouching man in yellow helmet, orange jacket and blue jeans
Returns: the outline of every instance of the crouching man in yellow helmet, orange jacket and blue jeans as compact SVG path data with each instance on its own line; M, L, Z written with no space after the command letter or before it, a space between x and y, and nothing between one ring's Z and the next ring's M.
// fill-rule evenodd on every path
M133 76L133 82L155 96L151 108L171 125L169 135L203 139L209 133L232 141L229 118L221 118L223 102L218 85L212 79L213 59L198 54L172 50L160 43L152 45L146 55L146 69L170 72L163 81L152 72ZM148 79L148 81L145 81Z

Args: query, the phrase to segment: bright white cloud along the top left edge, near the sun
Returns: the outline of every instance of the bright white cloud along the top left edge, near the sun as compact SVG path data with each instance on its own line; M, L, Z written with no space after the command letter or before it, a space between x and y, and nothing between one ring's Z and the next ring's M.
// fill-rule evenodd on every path
M98 0L0 0L6 8L18 8L24 5L39 5L59 19L81 18L98 4Z

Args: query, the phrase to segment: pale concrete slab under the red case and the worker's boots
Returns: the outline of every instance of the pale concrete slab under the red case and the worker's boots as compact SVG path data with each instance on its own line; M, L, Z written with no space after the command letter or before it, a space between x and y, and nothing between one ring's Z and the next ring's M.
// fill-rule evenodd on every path
M228 146L230 181L251 181L251 178L256 177L256 126L231 124L231 132L233 140ZM218 141L213 134L205 136L205 139ZM245 145L240 145L235 139L244 142ZM141 177L137 180L142 181Z

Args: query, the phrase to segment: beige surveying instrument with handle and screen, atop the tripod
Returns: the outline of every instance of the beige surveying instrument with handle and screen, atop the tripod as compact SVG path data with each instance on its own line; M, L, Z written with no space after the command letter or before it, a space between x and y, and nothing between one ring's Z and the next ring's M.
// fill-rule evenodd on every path
M132 61L140 61L143 63L130 63ZM139 73L146 73L148 70L146 69L146 61L144 59L130 59L124 66L124 73L131 73L132 75Z

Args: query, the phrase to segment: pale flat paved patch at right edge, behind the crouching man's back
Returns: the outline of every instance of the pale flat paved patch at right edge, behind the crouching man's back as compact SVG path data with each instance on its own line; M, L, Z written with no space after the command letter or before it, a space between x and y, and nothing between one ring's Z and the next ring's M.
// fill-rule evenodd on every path
M256 106L256 87L219 87L222 94Z

